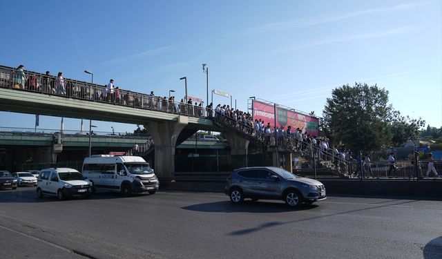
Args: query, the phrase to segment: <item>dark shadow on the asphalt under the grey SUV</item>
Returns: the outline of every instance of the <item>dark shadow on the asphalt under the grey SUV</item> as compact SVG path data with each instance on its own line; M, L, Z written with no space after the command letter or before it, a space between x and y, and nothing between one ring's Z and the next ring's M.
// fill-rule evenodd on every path
M314 209L317 205L304 205L302 204L298 209L292 209L288 207L284 202L267 202L258 201L252 202L251 200L244 200L241 204L233 204L230 201L222 202L206 202L202 204L194 204L181 209L188 211L200 211L200 212L246 212L246 213L282 213L288 211L303 211L307 209Z

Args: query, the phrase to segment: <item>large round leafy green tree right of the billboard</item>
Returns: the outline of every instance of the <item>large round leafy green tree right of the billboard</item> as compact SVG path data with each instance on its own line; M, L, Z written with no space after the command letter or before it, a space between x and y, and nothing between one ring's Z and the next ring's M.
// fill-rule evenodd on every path
M325 132L336 142L356 151L372 151L390 144L388 91L356 83L332 91L323 115Z

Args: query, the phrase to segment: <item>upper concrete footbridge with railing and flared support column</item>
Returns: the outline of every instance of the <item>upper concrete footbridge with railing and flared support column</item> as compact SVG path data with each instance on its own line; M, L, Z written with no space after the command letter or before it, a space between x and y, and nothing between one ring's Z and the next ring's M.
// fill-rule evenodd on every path
M171 178L175 147L198 130L226 131L213 124L202 106L171 102L161 97L113 90L75 79L59 79L32 71L0 66L0 111L30 113L108 122L142 124L155 140L155 171ZM249 145L228 135L232 153ZM57 146L52 146L55 153Z

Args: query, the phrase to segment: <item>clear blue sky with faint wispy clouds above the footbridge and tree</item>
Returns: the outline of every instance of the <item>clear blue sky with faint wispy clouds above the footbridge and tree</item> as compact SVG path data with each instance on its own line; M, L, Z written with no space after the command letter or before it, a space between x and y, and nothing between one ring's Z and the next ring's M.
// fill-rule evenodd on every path
M321 115L332 90L377 84L403 115L442 126L442 1L0 0L0 65L175 99L230 93ZM209 93L209 99L211 95ZM229 104L214 95L214 104ZM40 116L39 128L61 118ZM80 120L64 119L79 130ZM133 124L93 122L96 131ZM85 123L85 128L86 128ZM0 126L35 115L0 112Z

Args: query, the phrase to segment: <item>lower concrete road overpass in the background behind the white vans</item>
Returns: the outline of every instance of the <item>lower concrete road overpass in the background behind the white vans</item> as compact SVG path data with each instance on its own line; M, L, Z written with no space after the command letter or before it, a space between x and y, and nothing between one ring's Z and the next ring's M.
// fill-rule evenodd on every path
M60 153L52 152L52 145L61 137L63 143ZM135 135L126 133L102 133L91 137L93 153L127 152L135 143L139 145L141 153L147 151L146 140L148 135ZM81 131L64 131L59 135L57 130L34 128L6 128L0 127L0 168L9 171L21 170L26 160L32 157L32 164L53 164L55 162L82 161L88 155L89 136ZM193 153L195 148L198 152L213 153L210 150L226 150L226 142L202 142L185 140L176 147L180 153ZM187 150L187 151L186 151ZM4 152L1 155L1 152ZM57 157L53 157L57 155ZM38 167L38 166L37 166ZM32 167L34 169L34 167Z

